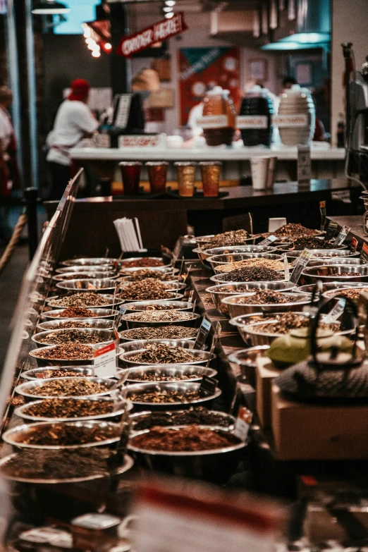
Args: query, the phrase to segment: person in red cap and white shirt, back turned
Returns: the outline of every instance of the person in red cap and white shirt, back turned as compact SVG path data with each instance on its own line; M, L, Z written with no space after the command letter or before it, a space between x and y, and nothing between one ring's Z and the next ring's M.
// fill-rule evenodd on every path
M47 161L51 173L51 200L59 200L70 180L69 150L97 130L99 123L87 106L90 83L78 78L56 114L54 128L47 137Z

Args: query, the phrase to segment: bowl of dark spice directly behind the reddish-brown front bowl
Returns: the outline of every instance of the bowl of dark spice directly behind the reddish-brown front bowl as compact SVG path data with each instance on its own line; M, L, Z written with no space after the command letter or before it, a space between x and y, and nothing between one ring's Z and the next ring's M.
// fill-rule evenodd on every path
M182 426L198 424L201 426L226 427L233 431L235 417L220 410L209 410L203 406L190 407L187 410L143 410L130 415L133 431L142 431L154 426Z

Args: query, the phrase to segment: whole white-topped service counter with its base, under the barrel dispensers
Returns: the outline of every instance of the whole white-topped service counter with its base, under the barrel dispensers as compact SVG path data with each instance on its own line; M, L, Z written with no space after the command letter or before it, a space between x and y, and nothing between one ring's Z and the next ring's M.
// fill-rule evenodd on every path
M244 147L124 147L97 148L75 147L70 156L81 164L90 164L96 168L99 164L111 163L116 168L119 161L223 161L222 179L236 181L250 176L250 158L275 155L278 158L276 180L294 180L296 178L296 147L272 146ZM325 142L313 142L311 147L313 178L342 178L345 174L345 149L331 147ZM198 176L199 173L198 173ZM142 178L147 179L145 171ZM121 181L118 171L115 179ZM200 179L200 178L199 178ZM173 166L169 166L168 180L175 180Z

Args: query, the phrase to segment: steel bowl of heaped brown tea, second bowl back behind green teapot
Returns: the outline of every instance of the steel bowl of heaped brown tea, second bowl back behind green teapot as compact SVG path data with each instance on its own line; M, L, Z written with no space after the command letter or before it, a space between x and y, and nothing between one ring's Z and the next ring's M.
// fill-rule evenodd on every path
M311 295L302 293L283 292L288 298L296 299L295 302L287 303L264 303L252 305L251 303L239 302L243 298L247 298L247 294L235 295L233 297L223 299L223 302L228 307L228 313L231 318L240 317L242 314L252 314L254 312L284 312L284 311L299 311L305 305L311 302Z

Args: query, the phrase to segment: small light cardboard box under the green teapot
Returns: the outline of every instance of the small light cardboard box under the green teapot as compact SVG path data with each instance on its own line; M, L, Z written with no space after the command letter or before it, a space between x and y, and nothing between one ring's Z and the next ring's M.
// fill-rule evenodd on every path
M274 378L281 374L267 357L257 358L256 390L257 414L263 429L271 427L271 386Z

